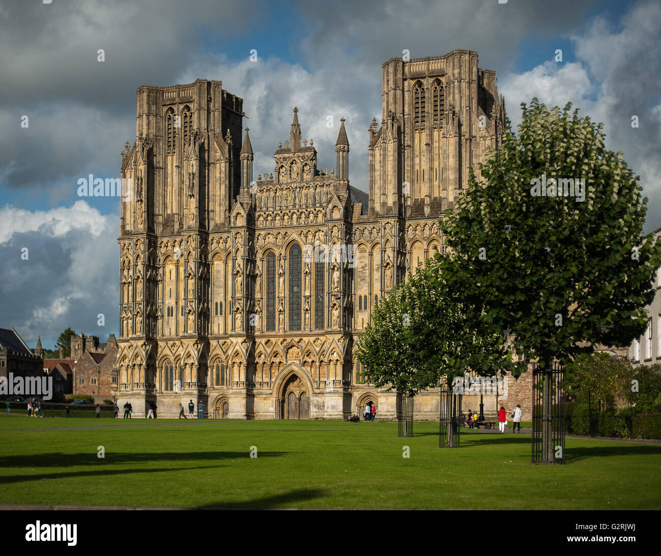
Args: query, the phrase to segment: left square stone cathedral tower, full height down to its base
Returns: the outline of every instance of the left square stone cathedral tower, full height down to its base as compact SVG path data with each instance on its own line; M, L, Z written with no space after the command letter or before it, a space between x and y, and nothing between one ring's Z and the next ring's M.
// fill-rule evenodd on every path
M221 81L137 89L136 141L121 153L130 190L121 203L117 361L118 394L138 416L163 390L156 368L166 349L182 353L181 363L165 366L159 382L178 395L159 396L159 409L175 410L167 406L182 396L206 403L206 246L210 232L227 230L239 194L242 120L243 99Z

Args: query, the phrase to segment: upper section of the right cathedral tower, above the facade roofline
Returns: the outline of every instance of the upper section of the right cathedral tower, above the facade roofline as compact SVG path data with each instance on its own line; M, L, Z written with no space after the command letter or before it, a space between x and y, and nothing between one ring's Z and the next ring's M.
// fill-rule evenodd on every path
M369 207L376 216L438 217L498 148L505 107L477 52L383 64L381 129L369 127ZM477 166L475 167L477 170Z

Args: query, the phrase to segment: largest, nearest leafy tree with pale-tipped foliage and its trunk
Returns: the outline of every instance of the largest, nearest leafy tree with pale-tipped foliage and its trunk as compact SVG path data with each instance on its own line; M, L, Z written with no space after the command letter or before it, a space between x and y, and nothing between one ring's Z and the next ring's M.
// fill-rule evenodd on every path
M535 98L522 108L518 137L506 133L481 165L484 180L471 172L441 222L451 251L443 274L453 295L483 303L494 330L515 334L510 348L547 371L554 359L566 363L596 343L627 345L641 335L661 244L642 236L640 178L621 153L605 149L603 124L570 114L571 104L549 112ZM568 195L564 188L552 195L555 180L570 178L578 190L564 182ZM551 463L550 423L542 437L543 462Z

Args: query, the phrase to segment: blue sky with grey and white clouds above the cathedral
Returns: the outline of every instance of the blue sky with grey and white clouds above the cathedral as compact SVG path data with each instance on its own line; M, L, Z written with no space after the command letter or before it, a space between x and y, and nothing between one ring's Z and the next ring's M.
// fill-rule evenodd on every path
M661 227L658 1L46 1L0 3L0 328L30 347L67 326L118 333L119 202L78 197L77 180L118 176L140 85L223 81L244 99L254 174L273 171L293 106L321 168L335 163L327 116L344 117L350 180L367 190L381 64L477 50L513 125L533 96L604 122L642 178L646 230Z

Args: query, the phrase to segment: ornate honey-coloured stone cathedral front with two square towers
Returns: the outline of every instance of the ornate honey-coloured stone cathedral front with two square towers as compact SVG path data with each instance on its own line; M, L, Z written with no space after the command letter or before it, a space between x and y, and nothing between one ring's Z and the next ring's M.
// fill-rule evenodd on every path
M441 211L498 148L494 71L469 50L383 64L369 195L350 185L344 119L336 166L321 169L296 108L273 172L253 176L243 108L220 81L137 89L121 155L118 402L138 416L192 400L210 417L332 419L371 401L392 418L395 394L360 384L358 337L379 299L444 250ZM438 392L415 411L438 419Z

